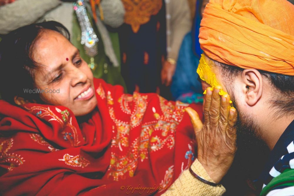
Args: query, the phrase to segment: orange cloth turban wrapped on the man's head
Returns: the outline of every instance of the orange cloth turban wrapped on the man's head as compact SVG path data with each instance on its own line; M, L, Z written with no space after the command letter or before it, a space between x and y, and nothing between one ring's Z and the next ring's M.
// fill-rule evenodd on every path
M294 76L293 22L286 0L210 0L199 42L216 61Z

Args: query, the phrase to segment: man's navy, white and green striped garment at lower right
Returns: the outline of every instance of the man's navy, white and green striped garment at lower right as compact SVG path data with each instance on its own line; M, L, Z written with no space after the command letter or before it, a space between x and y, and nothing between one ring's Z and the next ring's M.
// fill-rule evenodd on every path
M260 196L294 196L294 120L279 138L260 176Z

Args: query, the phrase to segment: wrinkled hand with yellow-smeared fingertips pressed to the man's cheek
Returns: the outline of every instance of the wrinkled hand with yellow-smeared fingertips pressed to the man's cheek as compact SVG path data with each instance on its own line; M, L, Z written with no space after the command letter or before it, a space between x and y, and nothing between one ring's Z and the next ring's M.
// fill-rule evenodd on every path
M203 127L196 111L192 108L186 109L196 133L197 158L216 183L228 172L236 152L234 125L237 112L235 108L230 108L228 94L218 94L220 89L220 86L215 89L209 87L206 91Z

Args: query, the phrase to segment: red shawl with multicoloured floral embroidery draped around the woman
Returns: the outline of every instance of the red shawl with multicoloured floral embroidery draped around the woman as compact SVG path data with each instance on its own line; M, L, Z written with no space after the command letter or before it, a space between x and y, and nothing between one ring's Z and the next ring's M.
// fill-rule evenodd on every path
M94 86L98 107L80 125L63 106L0 100L3 195L160 195L190 166L186 104L123 94L101 79Z

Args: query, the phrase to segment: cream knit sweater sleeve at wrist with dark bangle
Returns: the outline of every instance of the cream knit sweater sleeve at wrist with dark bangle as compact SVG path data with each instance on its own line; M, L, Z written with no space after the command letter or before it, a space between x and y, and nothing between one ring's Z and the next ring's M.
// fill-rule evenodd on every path
M205 180L213 182L209 177L201 163L196 159L191 165L191 169L197 175ZM220 196L225 193L225 187L222 185L211 186L207 185L197 178L195 178L189 170L185 170L178 177L178 179L168 188L168 190L163 193L163 196Z

